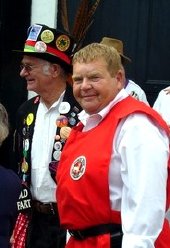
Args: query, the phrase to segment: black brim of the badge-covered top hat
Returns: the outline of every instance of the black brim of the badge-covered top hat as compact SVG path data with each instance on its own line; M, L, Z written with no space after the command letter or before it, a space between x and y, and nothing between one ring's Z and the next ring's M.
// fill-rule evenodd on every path
M61 58L54 56L50 53L24 52L24 51L20 51L20 50L13 50L13 52L20 55L20 56L28 55L31 57L44 59L44 60L49 61L49 62L54 63L54 64L55 63L59 64L66 72L68 72L68 73L72 72L72 65L71 64L67 64Z

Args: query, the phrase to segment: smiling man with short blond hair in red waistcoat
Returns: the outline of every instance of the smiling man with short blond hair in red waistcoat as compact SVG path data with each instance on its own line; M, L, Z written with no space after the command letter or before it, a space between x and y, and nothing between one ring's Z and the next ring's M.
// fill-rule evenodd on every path
M84 109L61 155L57 199L67 248L169 248L169 130L123 89L118 52L93 43L73 57Z

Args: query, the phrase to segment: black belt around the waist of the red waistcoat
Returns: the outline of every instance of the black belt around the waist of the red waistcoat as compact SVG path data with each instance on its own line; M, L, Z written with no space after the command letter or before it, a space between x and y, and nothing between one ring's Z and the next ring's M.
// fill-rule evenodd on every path
M101 234L110 233L113 236L122 235L122 226L120 224L101 224L83 230L68 230L75 239L83 240Z

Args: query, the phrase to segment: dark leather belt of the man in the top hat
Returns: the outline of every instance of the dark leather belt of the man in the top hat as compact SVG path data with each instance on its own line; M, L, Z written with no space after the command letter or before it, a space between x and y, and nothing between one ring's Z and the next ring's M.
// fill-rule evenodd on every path
M33 201L33 209L42 214L58 214L57 204L54 202L43 203L39 201Z

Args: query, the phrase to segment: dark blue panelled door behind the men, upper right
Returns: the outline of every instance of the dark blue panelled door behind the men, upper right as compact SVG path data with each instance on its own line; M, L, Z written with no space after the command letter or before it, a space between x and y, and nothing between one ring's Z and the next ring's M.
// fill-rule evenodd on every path
M67 1L70 24L80 2ZM145 90L151 106L170 85L169 16L169 0L101 0L83 44L104 36L122 40L124 53L132 59L127 76Z

